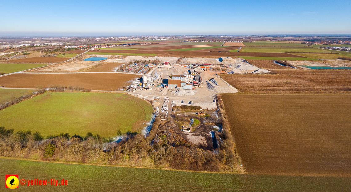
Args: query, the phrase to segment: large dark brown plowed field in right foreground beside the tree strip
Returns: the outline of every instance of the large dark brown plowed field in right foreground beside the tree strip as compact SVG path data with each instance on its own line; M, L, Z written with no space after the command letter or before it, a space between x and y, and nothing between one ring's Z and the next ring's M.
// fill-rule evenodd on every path
M351 176L351 95L221 95L247 173Z

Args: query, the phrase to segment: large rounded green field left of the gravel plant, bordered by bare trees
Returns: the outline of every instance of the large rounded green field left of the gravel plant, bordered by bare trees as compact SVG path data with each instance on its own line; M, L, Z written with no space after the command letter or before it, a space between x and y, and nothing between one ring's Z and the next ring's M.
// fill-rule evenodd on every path
M105 137L140 131L152 106L127 94L46 92L0 111L0 127L39 131L43 136L87 132Z

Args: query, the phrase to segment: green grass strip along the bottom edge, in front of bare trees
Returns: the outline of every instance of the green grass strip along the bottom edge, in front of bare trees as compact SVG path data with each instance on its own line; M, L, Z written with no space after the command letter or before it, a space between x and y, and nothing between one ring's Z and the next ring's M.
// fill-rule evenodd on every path
M162 169L113 167L37 162L0 158L2 180L5 174L18 174L19 180L68 181L67 186L20 185L20 191L260 191L260 192L347 192L351 178L295 177L278 175L221 174Z

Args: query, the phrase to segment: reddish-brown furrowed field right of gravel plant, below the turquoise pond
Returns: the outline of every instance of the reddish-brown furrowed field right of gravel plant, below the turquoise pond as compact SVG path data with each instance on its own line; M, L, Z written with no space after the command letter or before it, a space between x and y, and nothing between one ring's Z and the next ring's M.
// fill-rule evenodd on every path
M244 93L351 93L351 70L286 70L278 75L221 75Z

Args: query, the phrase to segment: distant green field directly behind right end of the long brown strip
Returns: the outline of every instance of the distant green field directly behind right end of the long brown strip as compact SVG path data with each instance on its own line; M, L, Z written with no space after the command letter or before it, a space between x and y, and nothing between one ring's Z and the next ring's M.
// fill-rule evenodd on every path
M264 53L285 53L285 51L294 52L319 52L327 53L325 49L317 49L314 47L298 48L298 47L243 47L240 52L264 52Z

